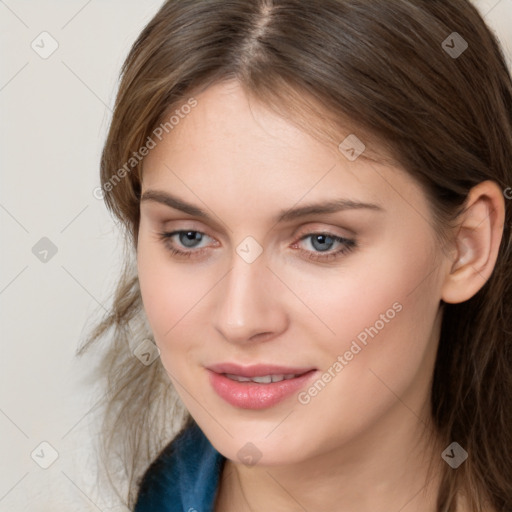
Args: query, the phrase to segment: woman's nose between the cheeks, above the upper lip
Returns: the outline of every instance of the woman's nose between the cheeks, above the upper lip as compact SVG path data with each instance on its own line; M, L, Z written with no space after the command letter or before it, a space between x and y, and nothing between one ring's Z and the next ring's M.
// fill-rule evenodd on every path
M267 267L264 253L252 263L234 254L218 288L215 327L231 343L267 341L288 324L283 284Z

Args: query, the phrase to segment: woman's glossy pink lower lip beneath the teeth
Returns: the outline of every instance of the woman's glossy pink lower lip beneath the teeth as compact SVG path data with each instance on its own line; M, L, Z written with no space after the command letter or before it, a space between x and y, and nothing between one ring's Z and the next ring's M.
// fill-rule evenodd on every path
M215 392L226 402L241 409L266 409L298 392L317 373L311 370L293 379L258 384L238 382L223 374L210 373L210 383Z

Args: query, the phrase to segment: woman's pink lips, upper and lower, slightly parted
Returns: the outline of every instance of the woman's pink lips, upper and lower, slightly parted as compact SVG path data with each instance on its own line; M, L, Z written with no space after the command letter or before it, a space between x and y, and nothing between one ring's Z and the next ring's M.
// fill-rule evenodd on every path
M207 368L210 384L226 402L240 409L266 409L291 397L313 379L319 372L314 368L291 368L276 365L241 367L226 363ZM298 377L270 384L237 382L224 375L230 373L242 377L261 377L276 374L301 374Z

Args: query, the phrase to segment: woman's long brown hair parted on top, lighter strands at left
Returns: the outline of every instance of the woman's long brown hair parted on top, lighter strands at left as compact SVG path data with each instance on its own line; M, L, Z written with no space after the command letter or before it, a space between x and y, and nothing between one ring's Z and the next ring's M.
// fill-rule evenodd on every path
M454 41L467 43L462 54L450 52ZM441 238L473 186L512 186L511 78L469 1L166 1L122 68L101 183L125 229L125 268L112 310L79 352L112 331L99 368L108 378L103 449L108 464L119 454L129 507L144 469L191 419L160 361L133 355L151 330L134 260L143 160L126 163L194 92L227 78L337 143L357 127L365 155L385 148L422 184ZM511 215L485 285L442 305L433 421L445 446L457 441L469 457L457 470L444 465L438 512L455 510L458 493L473 510L512 507Z

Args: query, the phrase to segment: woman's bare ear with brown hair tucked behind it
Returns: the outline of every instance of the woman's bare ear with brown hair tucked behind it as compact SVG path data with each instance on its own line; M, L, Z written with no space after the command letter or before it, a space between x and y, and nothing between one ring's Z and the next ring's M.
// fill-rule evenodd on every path
M494 181L473 187L457 222L455 258L442 286L441 299L464 302L475 295L494 270L505 222L503 191Z

